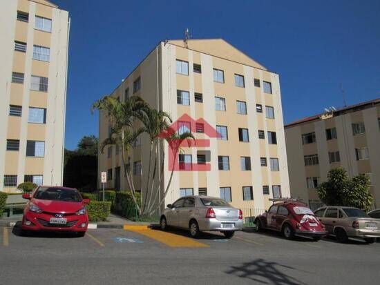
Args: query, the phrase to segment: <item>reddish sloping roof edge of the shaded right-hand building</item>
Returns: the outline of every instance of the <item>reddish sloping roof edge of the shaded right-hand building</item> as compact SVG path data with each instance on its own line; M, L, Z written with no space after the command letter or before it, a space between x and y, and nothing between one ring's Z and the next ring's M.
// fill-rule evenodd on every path
M351 105L351 106L347 106L347 107L343 107L343 108L340 108L340 109L335 110L335 111L330 112L330 113L323 112L319 115L314 115L311 117L305 117L303 119L300 119L298 121L293 121L292 123L285 125L285 128L292 128L294 126L309 123L311 121L319 121L319 120L325 119L327 117L336 117L336 116L343 115L343 114L348 113L348 112L356 112L356 111L363 110L366 108L371 108L372 106L376 106L378 104L380 104L380 98L373 99L370 101L365 101L365 102L355 104L355 105Z

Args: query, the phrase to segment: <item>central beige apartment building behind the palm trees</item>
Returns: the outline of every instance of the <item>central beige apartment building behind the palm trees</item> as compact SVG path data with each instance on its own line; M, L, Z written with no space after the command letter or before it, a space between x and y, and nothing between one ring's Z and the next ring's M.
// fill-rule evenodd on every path
M210 195L240 208L263 209L270 197L289 197L279 77L227 41L160 42L111 95L120 101L141 96L152 108L169 112L173 121L189 117L178 131L191 130L196 139L209 139L209 146L184 148L178 155L180 163L207 163L209 169L175 171L165 204L184 195ZM210 137L201 121L220 137ZM109 128L101 112L100 141ZM163 153L166 186L171 174L166 142L160 157ZM149 138L143 134L131 153L136 189L144 189L148 161ZM99 173L108 173L108 188L127 188L117 148L99 152L98 165Z

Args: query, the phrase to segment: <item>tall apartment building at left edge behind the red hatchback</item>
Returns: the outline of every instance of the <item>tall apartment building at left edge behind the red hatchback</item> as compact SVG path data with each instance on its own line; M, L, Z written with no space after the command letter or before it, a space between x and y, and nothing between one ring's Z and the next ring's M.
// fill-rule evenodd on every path
M44 0L0 3L0 190L61 185L68 12Z

